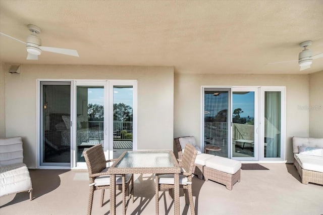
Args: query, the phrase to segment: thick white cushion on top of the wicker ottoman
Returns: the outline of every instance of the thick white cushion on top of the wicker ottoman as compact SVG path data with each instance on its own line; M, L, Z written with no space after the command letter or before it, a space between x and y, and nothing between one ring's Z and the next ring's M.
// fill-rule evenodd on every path
M233 175L240 170L241 162L226 157L214 156L206 160L205 167Z

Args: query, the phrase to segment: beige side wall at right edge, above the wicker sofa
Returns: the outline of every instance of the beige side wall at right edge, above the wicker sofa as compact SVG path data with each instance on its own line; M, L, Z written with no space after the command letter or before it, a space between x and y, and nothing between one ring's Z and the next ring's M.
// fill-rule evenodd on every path
M309 75L309 136L323 138L323 71Z

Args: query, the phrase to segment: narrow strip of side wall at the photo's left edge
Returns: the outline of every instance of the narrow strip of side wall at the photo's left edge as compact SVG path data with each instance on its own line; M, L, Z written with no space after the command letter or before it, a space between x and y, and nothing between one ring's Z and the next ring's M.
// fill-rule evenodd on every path
M0 62L0 137L6 137L5 64Z

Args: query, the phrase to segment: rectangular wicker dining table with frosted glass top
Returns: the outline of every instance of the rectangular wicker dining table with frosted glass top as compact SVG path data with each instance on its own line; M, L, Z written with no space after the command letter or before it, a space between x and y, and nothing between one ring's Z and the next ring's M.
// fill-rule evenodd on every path
M109 168L108 173L111 177L110 214L116 214L115 175L123 175L125 177L125 174L174 174L174 214L179 214L179 174L181 173L181 168L173 151L125 151ZM123 186L125 186L125 180L122 181ZM125 206L123 208L123 214L126 214Z

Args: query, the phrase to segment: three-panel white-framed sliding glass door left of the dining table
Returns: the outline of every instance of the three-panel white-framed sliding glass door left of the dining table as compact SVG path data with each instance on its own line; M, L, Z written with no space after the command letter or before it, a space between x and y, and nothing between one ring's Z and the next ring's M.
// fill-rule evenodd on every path
M137 149L137 81L39 80L39 167L86 168L100 144L106 159Z

